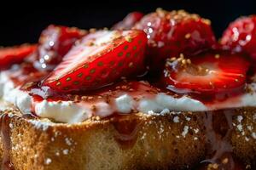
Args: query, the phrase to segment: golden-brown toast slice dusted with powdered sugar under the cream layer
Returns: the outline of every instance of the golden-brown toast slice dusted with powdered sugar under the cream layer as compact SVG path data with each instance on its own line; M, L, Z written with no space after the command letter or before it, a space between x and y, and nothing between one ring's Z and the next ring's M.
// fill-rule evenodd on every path
M208 127L223 131L227 125L233 155L247 167L255 166L256 108L224 114L136 113L77 124L22 116L15 109L1 117L0 157L15 170L191 169L206 159Z

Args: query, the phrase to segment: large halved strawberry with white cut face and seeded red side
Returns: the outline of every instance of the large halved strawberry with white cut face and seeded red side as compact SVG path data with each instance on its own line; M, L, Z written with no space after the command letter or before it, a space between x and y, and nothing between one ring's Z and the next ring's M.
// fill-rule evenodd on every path
M101 88L142 69L143 31L96 31L73 47L43 82L56 91Z

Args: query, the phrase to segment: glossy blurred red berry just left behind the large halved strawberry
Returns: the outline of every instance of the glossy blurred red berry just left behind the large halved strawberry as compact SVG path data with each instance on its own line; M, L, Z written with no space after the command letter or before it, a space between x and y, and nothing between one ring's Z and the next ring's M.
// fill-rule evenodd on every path
M52 70L72 48L74 42L86 35L86 31L66 26L48 26L39 38L36 67Z

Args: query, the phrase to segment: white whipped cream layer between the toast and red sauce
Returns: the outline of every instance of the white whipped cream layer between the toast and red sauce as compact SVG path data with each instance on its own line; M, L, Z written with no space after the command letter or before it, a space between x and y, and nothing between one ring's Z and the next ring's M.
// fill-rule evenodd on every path
M175 98L165 93L155 93L149 97L146 93L132 94L125 91L116 95L110 105L101 99L95 102L48 101L47 99L34 101L32 96L20 90L20 87L15 88L14 83L8 77L8 71L0 73L0 98L4 102L15 105L23 113L34 111L40 117L67 123L83 122L90 116L111 116L115 112L130 114L132 111L141 111L145 114L167 114L170 111L213 111L256 106L256 83L248 86L251 89L250 93L227 99L224 102L214 102L211 105L204 105L201 101L187 96Z

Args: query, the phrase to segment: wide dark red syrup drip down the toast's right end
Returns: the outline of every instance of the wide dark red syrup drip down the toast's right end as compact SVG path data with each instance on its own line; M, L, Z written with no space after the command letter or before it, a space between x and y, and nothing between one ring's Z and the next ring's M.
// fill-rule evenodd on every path
M202 166L197 169L245 169L242 163L232 154L230 138L233 131L232 117L234 115L235 111L233 109L205 112L207 153L206 160L201 161Z

